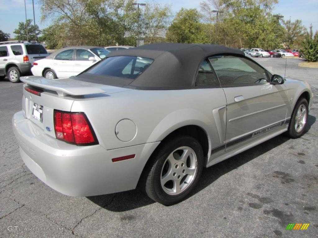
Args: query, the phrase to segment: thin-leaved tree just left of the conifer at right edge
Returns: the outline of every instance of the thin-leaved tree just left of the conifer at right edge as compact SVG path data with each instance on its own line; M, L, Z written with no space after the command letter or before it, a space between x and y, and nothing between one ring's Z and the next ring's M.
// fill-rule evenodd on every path
M291 22L290 20L284 21L284 26L286 30L283 40L286 48L291 49L292 47L298 47L307 33L301 20L297 19L294 22Z

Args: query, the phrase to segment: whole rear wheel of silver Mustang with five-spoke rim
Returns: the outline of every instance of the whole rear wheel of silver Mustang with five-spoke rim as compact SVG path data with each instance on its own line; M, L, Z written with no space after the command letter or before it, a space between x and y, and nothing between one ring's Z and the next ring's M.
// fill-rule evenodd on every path
M169 206L184 200L203 169L203 151L193 137L178 135L164 141L152 156L143 189L152 200Z

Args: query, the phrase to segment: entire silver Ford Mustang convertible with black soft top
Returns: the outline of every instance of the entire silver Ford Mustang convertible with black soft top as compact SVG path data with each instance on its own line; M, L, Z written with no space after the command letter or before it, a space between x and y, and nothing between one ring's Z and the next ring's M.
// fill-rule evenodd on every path
M185 199L203 167L300 137L313 98L307 83L219 45L143 45L77 76L21 80L13 130L40 180L71 196L138 185L164 205Z

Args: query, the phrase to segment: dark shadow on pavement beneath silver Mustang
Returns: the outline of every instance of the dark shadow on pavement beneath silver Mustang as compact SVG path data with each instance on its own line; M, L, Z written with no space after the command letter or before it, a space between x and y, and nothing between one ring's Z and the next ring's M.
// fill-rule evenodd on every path
M315 121L315 116L308 116L306 132L311 128ZM289 139L289 137L284 135L276 136L238 155L234 155L225 161L219 162L209 168L204 169L197 187L194 189L194 192L190 194L190 196L197 194L222 175L227 174L233 169L239 168L245 163L257 158L271 149L284 144ZM99 205L100 207L113 212L129 211L154 203L154 201L144 195L139 188L115 194L90 196L87 197L87 199Z

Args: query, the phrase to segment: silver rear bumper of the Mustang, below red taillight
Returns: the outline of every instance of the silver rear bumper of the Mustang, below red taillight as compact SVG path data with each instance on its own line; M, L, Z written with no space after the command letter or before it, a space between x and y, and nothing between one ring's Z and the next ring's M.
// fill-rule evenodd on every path
M149 156L160 142L106 150L100 145L76 146L45 134L24 118L12 118L13 131L25 165L41 181L70 196L92 196L134 189ZM112 158L135 158L112 162Z

